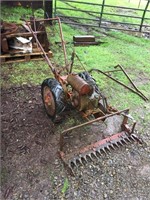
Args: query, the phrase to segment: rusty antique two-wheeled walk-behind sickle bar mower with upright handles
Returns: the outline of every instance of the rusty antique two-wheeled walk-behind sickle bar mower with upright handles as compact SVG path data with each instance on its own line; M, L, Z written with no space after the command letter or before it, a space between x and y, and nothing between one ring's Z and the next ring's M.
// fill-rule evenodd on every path
M54 75L54 78L44 80L41 86L42 99L47 115L52 121L54 121L68 105L71 105L88 120L85 123L64 130L60 136L60 157L64 161L65 165L73 172L73 168L77 166L78 163L82 164L89 159L92 160L93 158L98 158L103 153L107 154L109 151L133 141L141 143L141 140L134 134L136 122L133 121L131 127L128 125L128 118L130 118L129 109L118 111L109 106L107 99L101 93L95 80L87 71L81 73L73 72L73 59L72 62L68 64L66 58L66 49L60 19L52 18L36 21L42 22L49 20L56 20L59 24L60 38L65 57L65 67L61 70L56 69L52 65L50 59L47 57L43 47L41 46L37 35L31 28L31 23L34 23L34 21L26 22L26 24L32 32L39 48L43 52L45 60ZM89 120L91 116L92 120ZM87 125L92 125L96 122L105 122L106 119L113 116L122 117L122 122L118 125L120 127L119 132L103 137L101 140L92 144L90 143L80 149L76 149L74 152L66 154L63 151L65 136L69 135L70 132Z

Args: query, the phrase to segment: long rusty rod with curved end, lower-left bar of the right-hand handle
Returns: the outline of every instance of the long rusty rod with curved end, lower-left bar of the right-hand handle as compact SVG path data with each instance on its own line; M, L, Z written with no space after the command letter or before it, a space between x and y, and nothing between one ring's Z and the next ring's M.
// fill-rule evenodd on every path
M115 78L109 76L109 75L106 74L105 72L103 72L103 71L101 71L101 70L99 70L99 69L91 69L91 70L89 70L89 73L92 72L92 71L96 71L96 72L99 72L99 73L101 73L101 74L107 76L108 78L112 79L112 80L115 81L116 83L122 85L123 87L127 88L128 90L130 90L130 91L132 91L133 93L139 95L142 99L144 99L145 101L147 101L147 98L145 98L141 93L139 93L139 92L135 91L134 89L128 87L127 85L125 85L124 83L122 83L122 82L116 80Z

